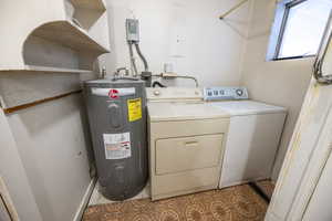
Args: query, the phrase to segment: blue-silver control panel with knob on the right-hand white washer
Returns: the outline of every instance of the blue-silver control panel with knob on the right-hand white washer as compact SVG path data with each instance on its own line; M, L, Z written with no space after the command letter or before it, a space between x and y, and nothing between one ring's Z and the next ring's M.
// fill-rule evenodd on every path
M246 87L205 87L205 101L232 101L248 99L248 91Z

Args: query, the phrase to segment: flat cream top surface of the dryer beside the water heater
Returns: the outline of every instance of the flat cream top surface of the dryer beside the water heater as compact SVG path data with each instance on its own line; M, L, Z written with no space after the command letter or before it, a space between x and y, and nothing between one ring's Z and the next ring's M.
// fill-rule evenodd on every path
M148 103L151 122L229 118L226 112L206 103Z

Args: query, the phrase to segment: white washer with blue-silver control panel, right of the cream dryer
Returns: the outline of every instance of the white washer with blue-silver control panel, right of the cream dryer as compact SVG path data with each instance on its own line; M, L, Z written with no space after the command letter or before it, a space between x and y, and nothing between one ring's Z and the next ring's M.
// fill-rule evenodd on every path
M231 116L219 187L271 178L287 110L248 101L242 87L208 87L204 94Z

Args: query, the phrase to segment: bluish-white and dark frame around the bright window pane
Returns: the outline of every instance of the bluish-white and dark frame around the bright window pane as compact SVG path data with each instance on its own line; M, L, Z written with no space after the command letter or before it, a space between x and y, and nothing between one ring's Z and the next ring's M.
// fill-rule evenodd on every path
M315 54L305 54L305 55L298 55L298 56L279 57L290 10L292 7L295 7L305 1L308 0L283 0L278 3L276 15L274 15L274 22L272 25L271 36L269 41L269 48L267 54L268 61L283 61L283 60L305 59L305 57L315 56Z

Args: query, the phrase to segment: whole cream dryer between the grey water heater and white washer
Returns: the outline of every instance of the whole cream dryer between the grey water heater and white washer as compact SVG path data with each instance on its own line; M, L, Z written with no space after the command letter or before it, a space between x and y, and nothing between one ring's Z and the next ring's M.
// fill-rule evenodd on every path
M198 88L147 88L152 200L218 188L229 115Z

